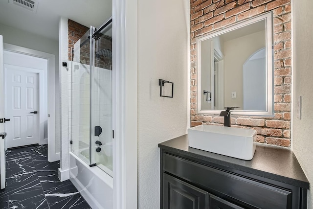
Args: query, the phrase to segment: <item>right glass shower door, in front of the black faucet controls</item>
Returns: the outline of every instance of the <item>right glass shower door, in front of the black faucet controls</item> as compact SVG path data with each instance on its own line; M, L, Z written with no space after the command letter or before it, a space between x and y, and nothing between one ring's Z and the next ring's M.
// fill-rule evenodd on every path
M92 30L91 163L112 176L112 19Z

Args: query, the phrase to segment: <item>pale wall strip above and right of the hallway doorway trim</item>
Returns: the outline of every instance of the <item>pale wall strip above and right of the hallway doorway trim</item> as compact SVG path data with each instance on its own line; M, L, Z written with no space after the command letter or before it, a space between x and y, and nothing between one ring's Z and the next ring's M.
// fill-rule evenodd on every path
M18 28L0 24L0 35L3 43L22 46L55 55L55 102L59 104L59 49L58 41L29 33ZM55 115L59 115L59 106L55 107ZM56 133L59 133L59 121L56 120ZM60 137L56 134L56 143L60 143ZM58 146L57 146L58 147ZM59 148L57 148L59 149ZM58 152L58 151L57 151Z

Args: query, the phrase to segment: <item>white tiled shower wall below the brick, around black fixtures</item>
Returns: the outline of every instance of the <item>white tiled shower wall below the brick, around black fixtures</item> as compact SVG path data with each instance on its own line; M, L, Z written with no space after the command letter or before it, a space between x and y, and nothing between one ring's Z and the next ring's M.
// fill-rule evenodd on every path
M111 163L112 158L112 70L94 67L91 94L91 136L92 163ZM68 69L68 132L73 141L72 152L78 155L78 141L89 144L90 136L90 70L89 65L72 62ZM94 136L94 126L100 126L102 133ZM95 152L95 141L102 142L102 151ZM85 148L86 149L86 148Z

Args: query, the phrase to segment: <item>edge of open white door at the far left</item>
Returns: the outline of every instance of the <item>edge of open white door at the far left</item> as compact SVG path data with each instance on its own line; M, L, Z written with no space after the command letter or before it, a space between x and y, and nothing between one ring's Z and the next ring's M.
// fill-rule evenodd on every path
M3 81L3 41L0 35L0 81ZM4 86L0 83L0 119L4 118ZM1 122L1 121L0 121ZM0 123L0 133L4 133L4 123ZM0 137L0 189L5 188L5 148L4 140Z

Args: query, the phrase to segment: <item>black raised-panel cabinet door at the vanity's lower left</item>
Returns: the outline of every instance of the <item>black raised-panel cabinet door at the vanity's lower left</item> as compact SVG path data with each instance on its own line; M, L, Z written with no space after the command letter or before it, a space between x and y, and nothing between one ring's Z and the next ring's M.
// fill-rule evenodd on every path
M208 192L163 173L163 209L208 209Z

